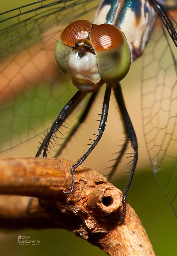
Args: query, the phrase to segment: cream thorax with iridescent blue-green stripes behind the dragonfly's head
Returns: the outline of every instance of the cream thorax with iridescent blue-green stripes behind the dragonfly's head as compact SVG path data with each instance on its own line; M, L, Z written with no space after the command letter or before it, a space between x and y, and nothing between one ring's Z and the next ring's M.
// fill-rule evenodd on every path
M96 13L96 24L120 28L128 41L132 61L142 55L156 20L148 0L103 0Z

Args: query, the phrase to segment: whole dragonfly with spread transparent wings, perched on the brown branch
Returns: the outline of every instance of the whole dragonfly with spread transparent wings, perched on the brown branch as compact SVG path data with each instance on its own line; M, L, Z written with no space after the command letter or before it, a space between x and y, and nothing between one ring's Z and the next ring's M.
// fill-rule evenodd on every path
M54 138L55 133L59 130L60 126L63 125L64 121L69 117L69 115L75 110L77 105L79 105L80 102L89 95L89 99L84 102L84 108L78 117L78 122L75 124L75 126L73 126L68 136L61 144L60 149L56 154L58 156L74 135L79 125L85 122L100 87L104 83L107 83L99 125L99 134L94 134L95 139L90 145L88 151L73 166L71 190L64 192L72 192L74 187L74 170L86 159L93 148L97 145L103 134L107 120L110 93L111 89L113 89L117 104L124 120L126 138L120 149L118 157L116 158L116 162L113 165L113 171L110 172L109 177L114 174L120 159L128 147L129 141L131 142L131 146L134 151L133 162L131 162L131 174L129 177L128 186L123 196L123 213L120 219L123 219L125 214L126 197L137 163L138 145L132 122L124 104L119 82L128 73L131 61L134 61L142 54L142 108L143 127L147 150L151 159L154 175L157 177L174 213L177 213L177 156L175 151L175 143L177 140L175 138L177 129L177 104L175 104L177 94L176 22L167 12L166 6L168 2L166 3L166 1L153 0L151 1L151 4L148 1L140 1L140 5L136 5L135 2L137 3L137 1L103 1L99 5L95 18L95 24L94 22L91 23L86 22L86 20L82 20L83 13L90 14L92 11L96 10L98 2L92 0L60 0L56 2L41 0L0 14L0 58L2 75L1 80L3 81L0 93L0 130L2 134L0 152L8 151L17 145L30 140L43 133L50 127L49 124L51 123L51 120L54 122L56 117L54 116L55 111L53 109L53 105L51 104L51 106L46 106L48 93L51 98L58 100L55 106L57 105L56 109L59 109L61 112L54 122L52 128L47 131L46 137L39 147L38 153L36 154L37 157L41 154L43 154L43 157L47 157L51 144L56 143L57 138ZM131 37L133 35L130 34L129 36L128 33L130 31L130 22L126 24L126 15L128 15L126 14L126 10L128 9L129 15L136 14L135 18L137 21L138 17L142 14L141 6L144 6L146 9L144 18L148 17L146 22L147 29L142 31L144 34L143 39L133 44L129 42L131 41ZM176 7L175 2L172 4L172 6ZM147 35L151 34L151 30L153 29L157 16L161 18L162 28L160 28L160 25L156 27L149 40ZM82 24L84 23L84 25L79 25L79 20L77 22L73 22L73 20L77 19L82 20ZM65 28L68 24L70 24L69 27ZM127 30L129 29L129 31L123 27L124 25L128 25ZM57 26L59 26L59 28ZM73 78L74 71L71 69L68 71L66 64L64 64L63 61L64 58L68 58L65 57L68 54L67 51L76 51L78 53L77 47L80 47L79 49L82 48L80 44L76 46L76 43L83 38L79 37L77 42L75 40L75 42L72 42L71 44L71 42L67 41L68 39L66 39L64 36L64 34L67 35L67 38L70 36L69 32L67 31L70 31L71 33L76 30L78 34L79 31L76 28L79 26L84 26L84 31L87 31L86 35L84 35L84 39L91 40L93 44L91 50L89 49L86 52L96 56L98 61L98 64L95 65L95 67L98 66L100 78L97 77L98 82L92 82L95 87L91 87L91 89L88 89L90 88L90 82L83 82L83 79L82 82L79 82L80 80L77 77ZM124 54L127 55L127 58L125 61L126 63L124 63L125 67L123 68L123 74L115 74L112 70L114 67L115 69L118 69L119 64L117 62L115 62L115 64L112 66L110 65L111 68L108 71L105 71L104 65L102 67L101 64L103 57L100 54L100 52L104 52L104 47L102 47L102 50L99 51L99 45L94 43L94 39L90 39L91 34L96 37L99 33L99 30L97 29L102 28L104 30L105 26L113 28L112 34L108 34L106 38L114 37L114 34L116 34L116 37L118 37L121 30L124 32L121 33L120 36L122 37L122 41L126 42L122 47L127 49ZM59 38L59 34L63 29L64 31L61 34L60 39L54 40L54 37ZM82 30L83 29L81 29L81 31ZM108 31L110 30L112 29L108 29ZM105 37L105 33L106 32L103 33L103 38ZM130 37L128 43L125 36ZM139 46L137 46L138 42ZM37 49L34 49L34 43L37 43ZM80 41L79 43L83 44L83 42ZM148 47L146 47L147 43ZM51 53L53 53L54 46L56 46L56 44L56 55L60 56L59 60L57 60L57 64L63 73L70 73L69 76L72 78L72 82L76 88L79 89L78 91L76 91L71 83L66 83L65 87L62 85L58 86L58 89L56 89L56 81L61 81L62 79L64 80L61 73L58 71L56 72L56 70L51 71L50 69L50 66L54 61L54 58L51 57ZM105 50L107 51L110 46L110 42L107 41ZM115 48L116 47L118 47L118 45L116 45ZM45 71L42 71L40 67L41 63L36 62L36 59L39 60L39 49L45 51L46 54L48 66L45 67ZM62 54L63 51L64 54ZM27 55L27 61L25 63L21 61L20 53L22 53L22 55ZM120 55L119 52L113 51L111 61L114 61L115 56L118 55ZM107 57L104 60L105 62L109 61L109 56L106 56ZM15 66L13 68L13 72L8 72L7 70L11 66L11 63L14 63ZM42 65L45 65L45 63L42 63ZM35 79L34 77L30 76L30 74L25 72L25 70L30 66L34 70L34 76L36 77ZM106 72L107 74L105 74ZM109 77L109 75L112 75L112 72L113 77ZM50 73L50 77L48 73ZM96 74L98 74L98 72L96 72ZM45 88L47 88L47 90L44 92L44 87L40 87L42 81L45 81L47 85L50 84L50 91L48 89L49 87L46 86ZM36 86L34 86L35 83L38 83L39 87L36 88ZM83 89L83 83L87 83L87 89ZM15 86L17 84L18 88L15 90ZM29 86L31 85L32 90L31 87L29 90ZM43 93L42 99L39 97L40 90ZM53 95L53 91L55 91L55 96ZM88 92L92 91L94 93L88 94ZM21 97L22 93L24 94L23 98ZM70 100L71 96L72 98ZM43 109L39 107L39 101L41 101ZM53 139L53 142L51 139Z

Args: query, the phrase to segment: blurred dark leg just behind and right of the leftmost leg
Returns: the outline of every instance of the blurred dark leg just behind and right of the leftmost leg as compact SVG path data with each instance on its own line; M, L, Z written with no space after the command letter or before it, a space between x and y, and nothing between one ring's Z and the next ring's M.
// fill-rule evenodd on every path
M76 131L78 130L79 126L85 122L85 120L86 120L86 118L87 118L87 116L88 116L88 114L90 112L91 106L92 106L95 98L98 95L98 92L99 92L99 90L94 92L94 93L92 93L90 99L87 102L87 105L86 105L83 113L81 113L80 116L78 117L78 120L77 120L76 124L70 130L68 136L66 137L64 142L61 144L59 150L57 151L57 153L55 154L54 157L58 157L61 154L62 150L65 148L65 146L70 141L70 139L73 137L73 135L76 133Z

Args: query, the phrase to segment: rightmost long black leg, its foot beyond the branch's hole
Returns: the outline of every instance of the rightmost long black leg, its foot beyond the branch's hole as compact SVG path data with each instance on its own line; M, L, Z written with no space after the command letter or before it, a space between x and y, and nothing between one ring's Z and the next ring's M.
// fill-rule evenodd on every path
M131 186L131 183L132 183L132 180L133 180L133 175L134 175L135 168L136 168L136 163L137 163L137 160L138 160L138 143L137 143L135 130L133 128L130 116L128 114L128 111L127 111L125 103L124 103L120 83L114 84L113 85L113 90L114 90L114 95L115 95L117 104L119 106L119 109L120 109L120 112L121 112L121 115L122 115L123 123L124 123L124 126L125 126L125 131L127 133L128 138L130 139L131 146L134 150L132 169L131 169L131 173L130 173L130 177L129 177L129 181L128 181L126 191L123 194L123 200L122 200L123 212L122 212L122 216L120 218L120 220L122 220L124 218L125 213L126 213L126 198L127 198L127 194L128 194L128 191L130 189L130 186Z

